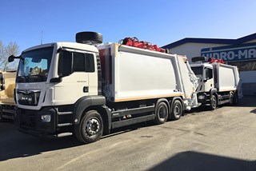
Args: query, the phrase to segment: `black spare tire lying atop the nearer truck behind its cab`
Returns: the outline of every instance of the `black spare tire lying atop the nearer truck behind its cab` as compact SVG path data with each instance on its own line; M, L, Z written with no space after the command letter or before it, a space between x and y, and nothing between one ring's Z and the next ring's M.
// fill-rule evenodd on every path
M75 40L78 43L85 43L85 44L99 44L102 43L102 34L96 32L79 32L75 35Z

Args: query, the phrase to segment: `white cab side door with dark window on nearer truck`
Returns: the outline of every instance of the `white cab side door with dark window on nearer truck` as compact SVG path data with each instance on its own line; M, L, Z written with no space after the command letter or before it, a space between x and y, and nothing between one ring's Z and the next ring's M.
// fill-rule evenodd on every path
M74 104L80 97L89 96L91 91L95 91L95 79L90 82L90 77L95 77L94 70L94 54L60 51L58 77L62 81L54 85L55 105Z

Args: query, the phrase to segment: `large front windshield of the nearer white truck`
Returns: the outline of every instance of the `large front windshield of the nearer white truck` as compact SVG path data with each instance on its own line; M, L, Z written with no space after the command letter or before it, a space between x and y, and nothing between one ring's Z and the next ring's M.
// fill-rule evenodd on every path
M16 82L46 82L53 50L50 46L23 53Z

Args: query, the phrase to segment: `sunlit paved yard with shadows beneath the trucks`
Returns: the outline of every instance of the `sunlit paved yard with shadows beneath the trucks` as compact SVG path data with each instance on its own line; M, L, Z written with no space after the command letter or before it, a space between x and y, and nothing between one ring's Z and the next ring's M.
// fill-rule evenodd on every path
M0 123L0 170L256 170L256 97L193 110L179 121L128 126L82 145Z

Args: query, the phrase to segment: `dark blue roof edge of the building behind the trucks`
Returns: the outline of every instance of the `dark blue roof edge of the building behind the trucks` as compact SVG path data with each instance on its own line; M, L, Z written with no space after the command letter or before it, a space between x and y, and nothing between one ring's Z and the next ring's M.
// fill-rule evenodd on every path
M162 46L164 49L171 49L176 46L180 46L185 43L215 43L215 44L229 44L229 45L238 45L243 42L249 42L256 39L256 33L250 34L248 36L237 38L237 39L226 39L226 38L183 38L177 42L170 43L166 46Z

